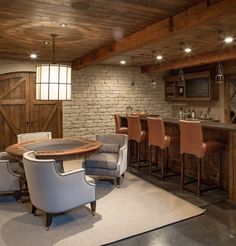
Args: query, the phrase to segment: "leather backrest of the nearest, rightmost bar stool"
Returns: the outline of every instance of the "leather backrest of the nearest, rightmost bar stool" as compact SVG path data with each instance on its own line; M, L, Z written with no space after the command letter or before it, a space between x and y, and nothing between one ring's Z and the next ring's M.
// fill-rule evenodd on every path
M202 157L203 134L200 121L180 120L180 153Z

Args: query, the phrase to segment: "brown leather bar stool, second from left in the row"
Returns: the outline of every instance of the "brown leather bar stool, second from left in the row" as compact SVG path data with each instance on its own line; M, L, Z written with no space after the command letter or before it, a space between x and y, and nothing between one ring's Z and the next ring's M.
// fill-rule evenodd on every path
M141 121L139 116L128 116L128 140L129 140L129 162L130 162L130 141L133 140L136 143L136 153L137 153L137 162L138 168L145 167L147 165L140 165L140 144L145 142L147 139L146 131L143 131L141 128ZM146 145L145 145L145 157L146 157Z

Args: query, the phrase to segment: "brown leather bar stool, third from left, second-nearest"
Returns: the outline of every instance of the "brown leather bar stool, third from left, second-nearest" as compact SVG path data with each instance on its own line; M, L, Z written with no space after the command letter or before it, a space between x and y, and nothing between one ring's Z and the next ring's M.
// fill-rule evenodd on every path
M164 180L165 177L174 176L176 174L169 174L168 161L169 161L169 147L171 145L179 144L179 136L168 136L165 134L165 127L162 118L147 118L148 123L148 145L149 145L149 162L150 162L150 175L154 174L152 171L152 147L160 149L161 151L161 172L155 173L158 178ZM165 159L166 151L166 159ZM158 153L157 153L158 154ZM158 170L157 170L158 171Z

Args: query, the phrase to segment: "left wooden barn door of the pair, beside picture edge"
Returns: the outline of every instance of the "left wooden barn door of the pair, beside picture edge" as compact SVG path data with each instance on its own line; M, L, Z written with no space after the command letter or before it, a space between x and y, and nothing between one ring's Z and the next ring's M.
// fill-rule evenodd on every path
M29 74L0 75L0 148L29 131Z

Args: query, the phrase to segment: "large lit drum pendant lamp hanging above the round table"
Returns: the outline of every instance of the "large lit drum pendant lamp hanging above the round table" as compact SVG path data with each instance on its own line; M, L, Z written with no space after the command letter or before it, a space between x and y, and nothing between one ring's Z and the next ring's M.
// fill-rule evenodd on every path
M55 38L52 63L36 67L36 100L71 100L71 66L55 62Z

